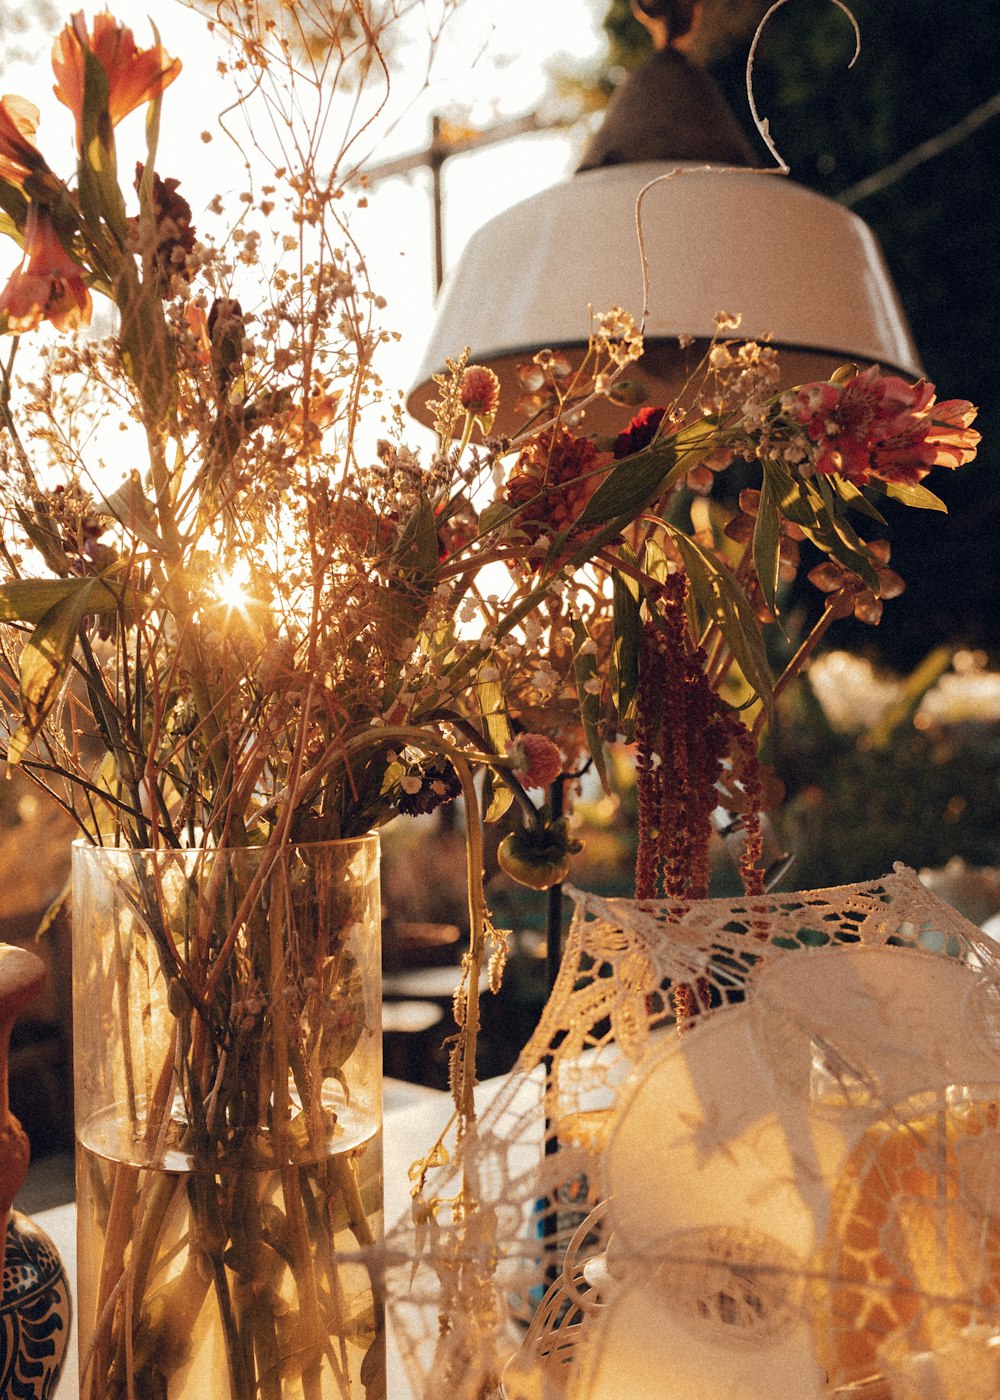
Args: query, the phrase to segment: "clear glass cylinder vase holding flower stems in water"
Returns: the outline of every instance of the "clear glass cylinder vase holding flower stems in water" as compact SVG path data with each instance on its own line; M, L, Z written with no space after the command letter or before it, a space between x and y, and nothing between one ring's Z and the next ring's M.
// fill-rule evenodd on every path
M73 857L81 1400L377 1400L378 837Z

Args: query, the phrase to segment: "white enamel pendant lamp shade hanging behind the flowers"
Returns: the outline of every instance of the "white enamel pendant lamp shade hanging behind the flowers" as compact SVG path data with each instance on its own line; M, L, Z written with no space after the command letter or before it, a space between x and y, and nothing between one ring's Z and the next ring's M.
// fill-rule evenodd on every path
M636 239L643 200L650 304L646 353L629 378L648 402L674 398L714 332L739 312L738 336L782 347L783 384L828 378L839 365L881 364L908 377L920 360L878 241L840 204L780 175L703 165L634 164L585 171L485 224L445 283L408 407L429 421L431 374L471 347L501 381L497 433L513 433L515 367L541 349L581 349L595 312L639 319L643 280ZM693 336L686 350L678 336ZM613 410L620 426L622 410ZM601 428L599 416L588 423ZM606 427L611 427L611 420Z

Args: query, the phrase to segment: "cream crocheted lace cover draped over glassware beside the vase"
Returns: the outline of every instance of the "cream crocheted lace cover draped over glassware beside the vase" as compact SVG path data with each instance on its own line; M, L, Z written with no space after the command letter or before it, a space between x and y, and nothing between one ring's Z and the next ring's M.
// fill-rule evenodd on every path
M570 893L517 1070L387 1242L415 1393L1000 1393L997 945L903 867Z

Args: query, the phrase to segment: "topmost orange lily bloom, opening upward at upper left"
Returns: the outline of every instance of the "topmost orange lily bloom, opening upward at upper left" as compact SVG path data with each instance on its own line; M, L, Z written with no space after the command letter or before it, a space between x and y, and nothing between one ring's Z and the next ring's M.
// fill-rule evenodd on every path
M87 32L83 11L74 14L52 46L55 94L77 123L77 144L83 144L84 50L90 50L108 74L108 115L118 126L122 118L143 102L158 97L181 71L181 60L171 59L162 45L137 49L132 29L113 15L94 15L94 32Z

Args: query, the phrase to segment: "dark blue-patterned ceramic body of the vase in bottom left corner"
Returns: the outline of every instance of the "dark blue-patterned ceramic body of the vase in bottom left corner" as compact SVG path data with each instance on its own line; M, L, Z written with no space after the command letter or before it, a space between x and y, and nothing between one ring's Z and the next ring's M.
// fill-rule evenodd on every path
M0 1396L49 1400L70 1337L70 1287L56 1246L27 1215L10 1212L0 1302Z

